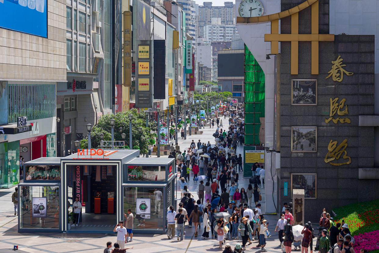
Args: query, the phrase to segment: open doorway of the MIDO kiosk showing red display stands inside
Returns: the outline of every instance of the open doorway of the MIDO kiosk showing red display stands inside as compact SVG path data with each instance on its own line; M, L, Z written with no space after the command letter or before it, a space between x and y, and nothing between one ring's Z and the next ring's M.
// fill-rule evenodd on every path
M79 195L83 200L83 207L78 226L71 226L67 233L113 233L114 226L118 223L115 199L116 166L76 166L74 170L75 178L80 173L81 184L77 185L76 180L75 185L69 187L67 196L72 196L72 200L69 197L69 211L72 211L72 203Z

